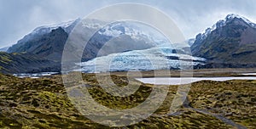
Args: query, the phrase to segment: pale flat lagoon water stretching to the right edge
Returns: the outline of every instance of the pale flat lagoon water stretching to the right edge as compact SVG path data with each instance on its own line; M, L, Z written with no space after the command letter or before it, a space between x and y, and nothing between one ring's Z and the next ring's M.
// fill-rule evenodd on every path
M154 85L183 85L195 81L229 81L229 80L256 80L256 76L228 76L228 77L153 77L137 78L138 81Z

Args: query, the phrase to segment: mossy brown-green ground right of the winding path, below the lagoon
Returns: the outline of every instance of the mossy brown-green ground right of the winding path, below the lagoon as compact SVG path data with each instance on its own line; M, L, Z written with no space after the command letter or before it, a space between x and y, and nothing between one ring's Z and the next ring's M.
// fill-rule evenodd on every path
M256 81L195 82L189 99L194 108L224 115L247 128L256 127Z

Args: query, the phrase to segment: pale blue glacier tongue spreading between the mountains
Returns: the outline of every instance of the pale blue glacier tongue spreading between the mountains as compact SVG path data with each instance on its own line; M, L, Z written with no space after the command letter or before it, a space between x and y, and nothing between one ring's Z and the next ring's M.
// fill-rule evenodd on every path
M168 59L170 56L177 57L178 59ZM188 59L194 61L191 62ZM206 60L202 58L172 53L172 48L157 47L125 53L112 53L107 56L91 59L79 64L81 69L78 71L97 73L128 70L170 70L182 69L181 65L203 64L202 62L204 61Z

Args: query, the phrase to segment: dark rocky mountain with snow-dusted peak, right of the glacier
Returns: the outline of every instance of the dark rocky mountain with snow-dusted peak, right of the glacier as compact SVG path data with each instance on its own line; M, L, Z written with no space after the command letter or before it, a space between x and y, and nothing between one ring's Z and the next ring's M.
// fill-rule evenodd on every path
M256 25L237 14L229 14L198 34L191 51L194 56L208 60L205 67L255 67Z

